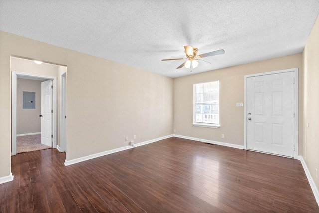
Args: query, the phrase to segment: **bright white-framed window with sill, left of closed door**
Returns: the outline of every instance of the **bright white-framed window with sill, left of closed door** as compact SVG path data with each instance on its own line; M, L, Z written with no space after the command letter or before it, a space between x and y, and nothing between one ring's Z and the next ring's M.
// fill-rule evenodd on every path
M219 81L194 84L193 125L219 127Z

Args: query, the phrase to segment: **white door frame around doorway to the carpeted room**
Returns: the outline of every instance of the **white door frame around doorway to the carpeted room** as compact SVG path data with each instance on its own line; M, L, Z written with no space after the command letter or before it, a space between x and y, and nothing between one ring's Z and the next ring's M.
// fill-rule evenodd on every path
M56 77L52 77L52 76L43 76L43 75L36 75L36 74L31 74L31 73L22 73L22 72L15 72L12 71L12 111L11 111L11 155L16 155L16 98L17 98L17 77L18 76L24 76L24 77L31 77L31 78L40 78L40 79L51 79L53 80L53 118L52 118L52 134L53 134L53 148L56 148L56 137L57 137L57 78Z

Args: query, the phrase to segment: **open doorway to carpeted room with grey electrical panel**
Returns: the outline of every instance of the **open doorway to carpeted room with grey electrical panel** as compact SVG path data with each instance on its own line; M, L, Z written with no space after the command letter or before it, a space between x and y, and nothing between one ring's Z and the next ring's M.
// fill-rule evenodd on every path
M16 153L51 148L52 80L20 75L16 80ZM46 97L46 84L50 97Z

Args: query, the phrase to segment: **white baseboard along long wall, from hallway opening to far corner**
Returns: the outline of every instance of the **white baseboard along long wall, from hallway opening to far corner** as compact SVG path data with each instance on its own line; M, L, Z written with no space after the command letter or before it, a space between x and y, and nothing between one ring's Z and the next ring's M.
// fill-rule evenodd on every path
M146 144L149 144L149 143L154 143L154 142L157 142L157 141L160 141L160 140L164 140L164 139L167 139L167 138L170 138L170 137L173 137L173 135L168 135L168 136L156 138L156 139L153 139L153 140L148 140L148 141L144 141L144 142L141 142L141 143L136 143L136 144L134 144L134 146L135 147L143 146L143 145L146 145ZM124 147L120 147L120 148L117 148L117 149L112 149L112 150L108 150L108 151L105 151L105 152L100 152L100 153L96 153L96 154L93 154L93 155L88 155L88 156L76 158L76 159L73 159L73 160L65 160L64 165L65 166L69 166L69 165L72 165L72 164L75 164L75 163L80 163L80 162L83 162L83 161L86 161L86 160L90 160L90 159L93 159L93 158L101 157L101 156L104 156L104 155L109 155L109 154L112 154L112 153L115 153L115 152L120 152L120 151L124 151L124 150L131 149L131 148L132 148L132 146L124 146Z

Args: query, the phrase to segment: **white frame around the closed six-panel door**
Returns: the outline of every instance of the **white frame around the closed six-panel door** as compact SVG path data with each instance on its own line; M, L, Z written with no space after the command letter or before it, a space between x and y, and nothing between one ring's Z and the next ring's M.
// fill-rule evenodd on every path
M298 68L256 73L244 76L244 149L247 150L247 78L278 73L294 72L294 159L298 159ZM268 153L269 154L269 153Z

